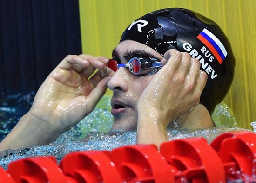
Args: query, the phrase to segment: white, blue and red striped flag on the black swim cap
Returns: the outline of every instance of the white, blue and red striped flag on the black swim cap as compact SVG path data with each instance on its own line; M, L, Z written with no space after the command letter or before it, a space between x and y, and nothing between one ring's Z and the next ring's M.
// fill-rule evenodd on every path
M204 28L197 38L207 46L220 64L227 57L228 53L224 45L213 33L209 32L207 29Z

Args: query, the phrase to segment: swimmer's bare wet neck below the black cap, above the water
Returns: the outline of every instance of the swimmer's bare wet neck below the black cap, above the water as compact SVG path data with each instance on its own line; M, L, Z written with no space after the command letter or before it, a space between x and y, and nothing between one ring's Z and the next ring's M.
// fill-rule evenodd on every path
M183 114L182 118L176 120L178 128L207 128L214 127L214 123L208 110L202 105L198 104L190 113ZM168 127L174 128L174 123L171 122Z

